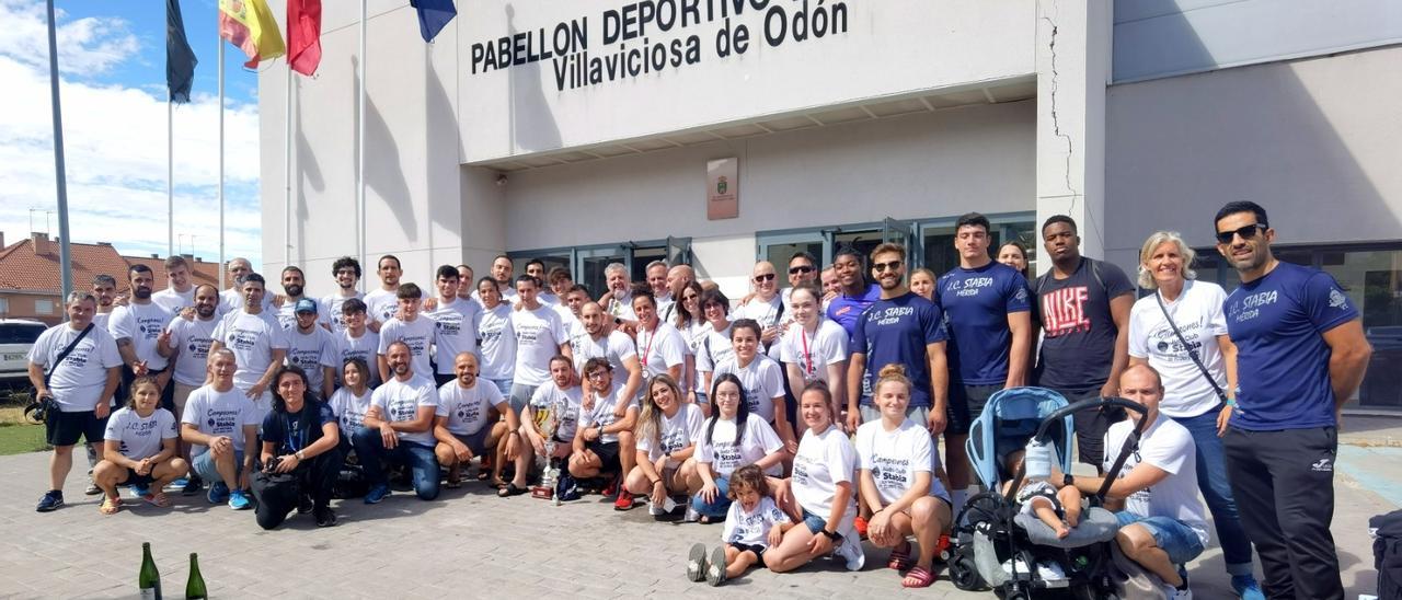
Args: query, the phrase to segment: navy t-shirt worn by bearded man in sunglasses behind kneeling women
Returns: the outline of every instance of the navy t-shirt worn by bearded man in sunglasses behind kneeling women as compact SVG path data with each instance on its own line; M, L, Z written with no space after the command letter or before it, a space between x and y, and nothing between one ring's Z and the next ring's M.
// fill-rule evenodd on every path
M930 357L925 346L946 339L939 307L914 293L878 300L866 307L852 339L852 353L866 355L861 404L871 405L876 374L890 363L904 364L910 405L930 407Z

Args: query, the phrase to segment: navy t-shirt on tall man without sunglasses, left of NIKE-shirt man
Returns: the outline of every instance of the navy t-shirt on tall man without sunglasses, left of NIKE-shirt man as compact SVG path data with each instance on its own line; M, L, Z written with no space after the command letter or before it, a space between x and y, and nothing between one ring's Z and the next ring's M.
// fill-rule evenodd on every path
M1012 331L1008 315L1032 308L1028 280L1014 268L990 262L977 269L955 266L935 283L949 328L949 374L967 386L1008 380Z

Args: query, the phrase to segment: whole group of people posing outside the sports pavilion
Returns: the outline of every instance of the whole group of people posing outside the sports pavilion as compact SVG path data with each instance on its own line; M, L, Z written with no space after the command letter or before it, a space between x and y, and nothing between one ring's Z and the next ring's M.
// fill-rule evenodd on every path
M320 301L297 266L272 294L244 259L223 292L191 285L172 257L168 287L151 293L154 273L133 265L128 297L97 278L29 355L38 395L57 407L38 510L63 505L80 439L102 513L119 510L119 485L156 506L172 482L207 485L213 503L255 506L265 529L294 510L335 524L346 461L363 470L366 503L390 495L395 468L430 500L474 460L501 496L558 465L600 481L618 510L684 505L684 520L723 521L719 547L691 551L695 580L827 555L861 569L866 540L892 548L904 586L928 586L977 489L970 425L993 394L1036 384L1147 408L1133 421L1078 412L1075 442L1105 472L1141 423L1109 485L1116 541L1171 597L1190 594L1183 565L1210 540L1199 493L1238 594L1342 597L1332 470L1339 408L1370 355L1359 313L1329 275L1272 255L1263 207L1230 203L1214 226L1239 289L1196 280L1192 248L1158 231L1140 252L1138 300L1122 269L1080 254L1066 216L1042 224L1050 269L1033 280L1026 251L990 252L990 223L970 213L946 273L907 269L896 244L840 248L827 266L799 252L789 286L760 261L735 300L663 262L638 285L608 265L596 294L540 261L513 278L502 255L477 280L440 266L425 293L386 255L362 294L359 262L341 258ZM1103 481L1053 484L1078 505L1071 491ZM1078 509L1054 519L1074 527Z

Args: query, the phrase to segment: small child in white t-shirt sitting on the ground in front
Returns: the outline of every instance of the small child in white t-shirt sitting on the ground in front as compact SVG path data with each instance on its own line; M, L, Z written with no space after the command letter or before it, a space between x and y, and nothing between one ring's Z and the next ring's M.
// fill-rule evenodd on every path
M725 530L721 531L723 545L711 552L709 561L705 544L691 547L687 579L693 582L705 579L707 583L719 586L726 579L744 575L751 565L763 565L764 550L778 545L784 531L794 527L788 514L774 503L770 484L760 467L747 464L735 470L726 496L733 502L725 516Z

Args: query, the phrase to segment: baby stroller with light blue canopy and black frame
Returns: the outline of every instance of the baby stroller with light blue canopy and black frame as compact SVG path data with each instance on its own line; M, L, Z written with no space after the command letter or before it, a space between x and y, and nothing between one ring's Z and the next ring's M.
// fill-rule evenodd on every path
M969 429L966 444L974 474L986 491L970 498L955 519L949 579L956 587L993 587L998 597L1008 600L1044 596L1117 599L1110 564L1119 523L1101 505L1127 453L1122 453L1106 472L1106 484L1099 493L1088 498L1089 506L1081 513L1081 521L1066 538L1059 538L1036 516L1021 513L1016 491L1023 484L1026 467L1008 472L1005 461L1009 453L1036 439L1052 446L1061 472L1071 472L1070 440L1075 433L1071 415L1098 407L1144 412L1143 405L1122 398L1067 405L1060 394L1039 387L1002 390L988 400ZM1133 450L1138 435L1136 426L1130 443L1124 444L1127 451ZM1007 481L1012 485L1002 492Z

